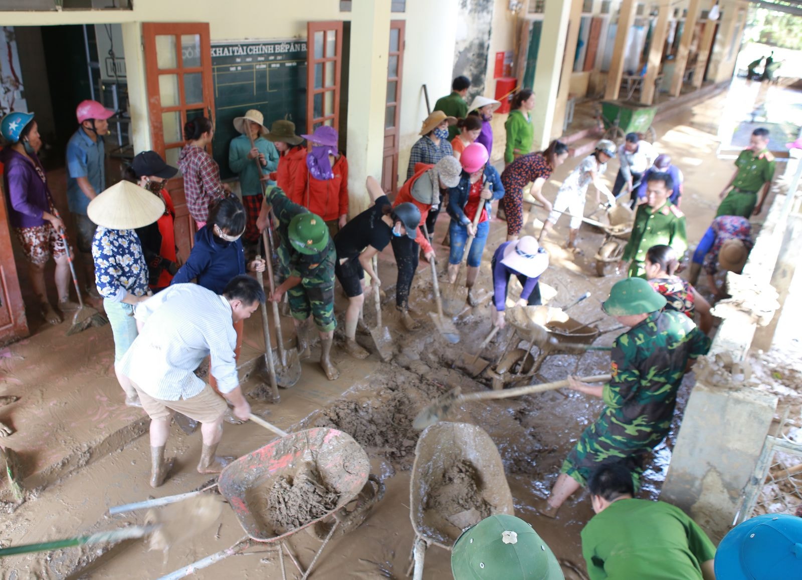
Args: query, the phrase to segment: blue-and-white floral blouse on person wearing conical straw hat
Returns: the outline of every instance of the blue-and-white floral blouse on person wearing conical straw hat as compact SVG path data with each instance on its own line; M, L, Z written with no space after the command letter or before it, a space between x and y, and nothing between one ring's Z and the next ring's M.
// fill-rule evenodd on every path
M134 230L112 230L99 226L92 240L95 285L103 298L122 302L127 292L148 293L148 264Z

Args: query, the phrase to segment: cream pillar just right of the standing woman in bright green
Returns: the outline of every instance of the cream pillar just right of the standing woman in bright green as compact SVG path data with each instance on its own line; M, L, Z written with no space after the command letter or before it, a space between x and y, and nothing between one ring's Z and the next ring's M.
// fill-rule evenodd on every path
M537 99L537 107L532 111L533 151L548 147L552 135L554 111L557 107L557 89L560 84L560 70L565 52L565 34L568 30L570 14L570 2L546 2L533 87ZM578 22L577 26L579 26ZM562 123L560 127L562 127Z

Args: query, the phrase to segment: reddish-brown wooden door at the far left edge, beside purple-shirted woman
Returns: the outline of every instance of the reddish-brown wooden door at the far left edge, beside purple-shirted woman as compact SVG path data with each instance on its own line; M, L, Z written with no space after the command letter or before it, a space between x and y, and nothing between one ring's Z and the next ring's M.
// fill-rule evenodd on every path
M17 277L17 264L14 262L14 249L11 248L6 195L3 195L0 187L0 345L29 334L25 304L22 302Z

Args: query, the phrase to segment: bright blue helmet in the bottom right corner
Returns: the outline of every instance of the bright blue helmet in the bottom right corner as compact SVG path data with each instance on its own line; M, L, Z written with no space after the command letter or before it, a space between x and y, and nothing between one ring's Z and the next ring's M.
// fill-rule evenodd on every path
M802 518L764 514L740 523L715 552L715 577L727 580L799 578Z

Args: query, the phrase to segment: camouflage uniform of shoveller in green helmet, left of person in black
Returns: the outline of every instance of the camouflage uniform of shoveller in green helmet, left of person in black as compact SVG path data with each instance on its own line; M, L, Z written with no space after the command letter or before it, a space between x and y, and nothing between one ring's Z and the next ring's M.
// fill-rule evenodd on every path
M273 206L273 215L278 220L276 232L281 244L276 253L279 268L283 268L285 276L301 279L301 284L287 291L290 312L298 320L306 320L311 314L320 332L334 330L337 326L334 320L334 263L337 261L334 240L329 237L326 248L317 254L295 251L290 245L290 221L298 214L309 213L309 210L290 201L275 186L267 187L265 201Z

